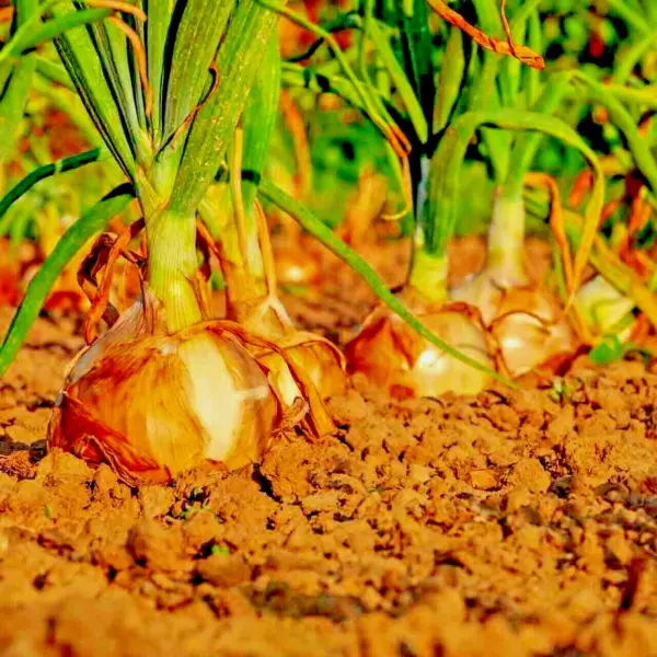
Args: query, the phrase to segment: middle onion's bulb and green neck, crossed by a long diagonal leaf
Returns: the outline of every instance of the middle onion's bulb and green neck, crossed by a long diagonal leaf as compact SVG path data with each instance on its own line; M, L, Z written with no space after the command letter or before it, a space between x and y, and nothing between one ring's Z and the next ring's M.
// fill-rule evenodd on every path
M433 181L439 166L439 160L423 162L424 180L416 203L422 221L415 231L407 280L399 297L427 328L482 369L475 370L445 353L379 304L346 345L345 355L349 371L365 373L395 397L476 394L492 381L486 369L495 368L492 345L479 315L463 304L448 302L447 245L453 223L441 212L437 199L425 196L427 187L435 188ZM427 222L439 237L433 250L425 240L423 224Z

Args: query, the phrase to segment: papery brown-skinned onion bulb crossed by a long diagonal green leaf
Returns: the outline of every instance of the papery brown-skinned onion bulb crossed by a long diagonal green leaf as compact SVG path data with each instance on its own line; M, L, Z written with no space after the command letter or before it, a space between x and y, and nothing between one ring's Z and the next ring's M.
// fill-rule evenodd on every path
M465 314L438 310L419 315L437 336L493 368L486 338ZM348 371L362 372L396 399L437 397L447 392L477 394L491 379L419 336L395 314L376 310L345 347Z

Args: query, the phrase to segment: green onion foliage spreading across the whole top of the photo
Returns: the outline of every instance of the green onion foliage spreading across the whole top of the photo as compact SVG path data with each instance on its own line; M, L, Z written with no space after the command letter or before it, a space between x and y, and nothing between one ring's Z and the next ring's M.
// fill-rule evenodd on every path
M504 39L498 0L451 5L470 11L477 27ZM575 0L507 2L516 43L546 56L548 70L538 72L474 45L459 30L436 20L425 0L362 0L345 12L331 5L320 25L272 0L219 4L139 0L137 9L148 13L148 21L138 12L118 15L141 39L146 84L135 43L120 24L105 20L110 10L71 0L41 5L36 0L19 0L9 41L0 53L0 158L7 162L12 157L35 80L57 84L53 102L59 95L58 102L66 103L69 92L64 88L74 89L135 188L147 224L165 208L168 220L189 228L240 117L243 169L249 174L243 176L246 206L255 198L263 172L272 176L279 166L292 177L290 135L275 115L283 84L303 108L313 177L306 203L323 223L333 227L341 221L366 168L385 175L389 198L404 206L399 159L404 139L394 141L394 135L403 135L412 147L408 161L417 206L412 219L422 221L429 250L443 250L454 233L483 230L486 197L496 185L520 194L525 174L532 169L557 176L566 189L586 160L596 172L596 185L588 199L587 223L578 229L577 244L585 253L598 228L596 216L611 197L602 184L601 154L622 163L622 173L636 168L647 183L650 203L657 194L657 132L653 127L643 135L637 128L646 113L657 110L657 64L650 54L656 5L610 0L607 15L593 15L590 5ZM275 50L278 13L316 37L308 61L267 59ZM344 49L335 38L341 30L354 35ZM66 69L42 47L48 38L56 39ZM342 99L339 110L319 108L315 100L326 94ZM606 110L604 120L600 108ZM354 119L354 111L359 119ZM82 126L83 120L77 123ZM87 134L93 137L89 128ZM397 149L392 157L390 142ZM44 203L64 196L56 188L61 178L51 180L51 187L44 183L32 188L41 176L96 159L83 153L50 170L39 166L43 153L33 158L38 148L33 151L25 170L36 166L35 175L0 200L0 233L14 239L33 231L31 218ZM430 159L427 174L425 164ZM621 185L621 176L610 182L613 194ZM428 204L417 203L427 186ZM12 205L27 189L32 192L22 205ZM265 196L272 203L276 194ZM298 207L296 214L306 216ZM606 228L625 218L626 214L616 212ZM330 233L313 221L306 221L307 229L331 242ZM644 246L654 234L649 223L637 243ZM616 354L615 347L606 338L592 358L609 358Z

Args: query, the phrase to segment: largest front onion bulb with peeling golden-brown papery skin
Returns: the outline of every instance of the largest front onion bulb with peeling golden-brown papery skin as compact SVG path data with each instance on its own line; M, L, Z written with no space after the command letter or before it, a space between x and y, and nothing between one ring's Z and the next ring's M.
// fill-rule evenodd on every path
M136 303L72 362L50 447L108 463L128 483L168 482L205 460L229 469L257 461L277 431L302 419L315 434L332 428L299 368L289 365L297 388L287 403L245 343L275 346L231 322L166 335L143 310Z

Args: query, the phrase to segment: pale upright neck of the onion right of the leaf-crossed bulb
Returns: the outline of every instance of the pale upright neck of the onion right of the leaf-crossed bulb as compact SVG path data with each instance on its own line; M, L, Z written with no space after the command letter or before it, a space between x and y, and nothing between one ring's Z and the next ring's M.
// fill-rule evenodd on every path
M495 192L493 216L488 227L486 268L500 284L523 285L527 274L523 264L525 203L515 191L504 187Z

